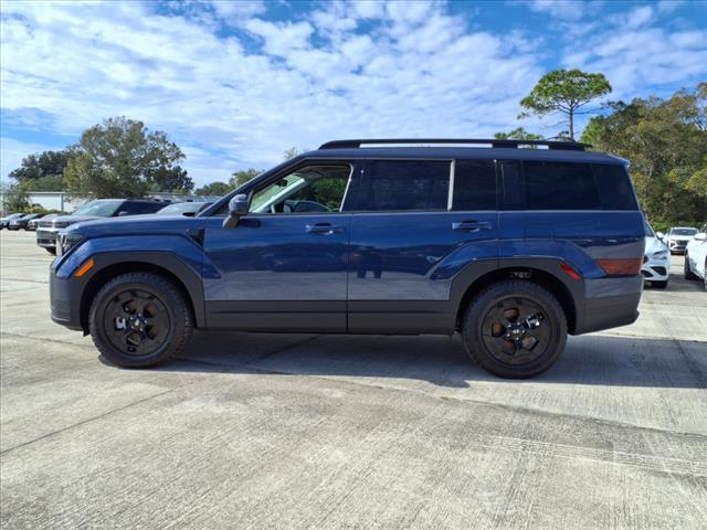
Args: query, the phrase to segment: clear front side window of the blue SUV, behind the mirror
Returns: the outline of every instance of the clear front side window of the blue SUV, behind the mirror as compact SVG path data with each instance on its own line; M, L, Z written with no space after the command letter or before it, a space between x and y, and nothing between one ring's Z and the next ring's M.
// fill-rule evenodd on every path
M351 174L349 165L306 166L256 190L254 213L340 212Z

